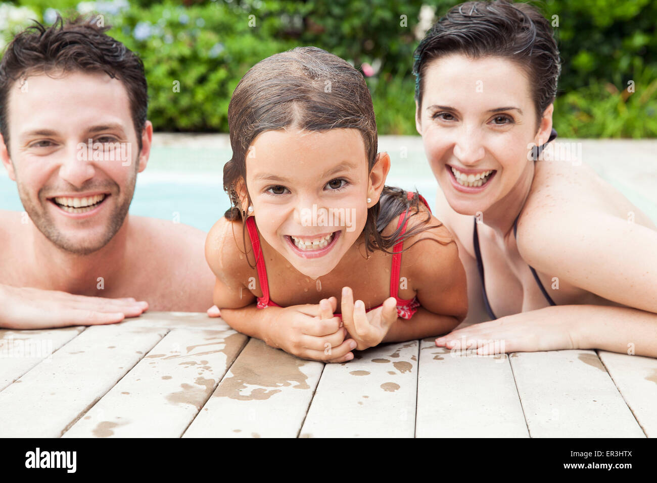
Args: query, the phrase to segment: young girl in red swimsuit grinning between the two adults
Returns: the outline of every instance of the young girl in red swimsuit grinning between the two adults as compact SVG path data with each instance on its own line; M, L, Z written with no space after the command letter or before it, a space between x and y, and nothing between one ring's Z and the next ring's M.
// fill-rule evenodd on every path
M348 62L315 47L266 58L238 83L228 119L234 206L206 241L227 324L345 362L464 319L456 244L422 196L384 186L390 158L376 153L371 96Z

